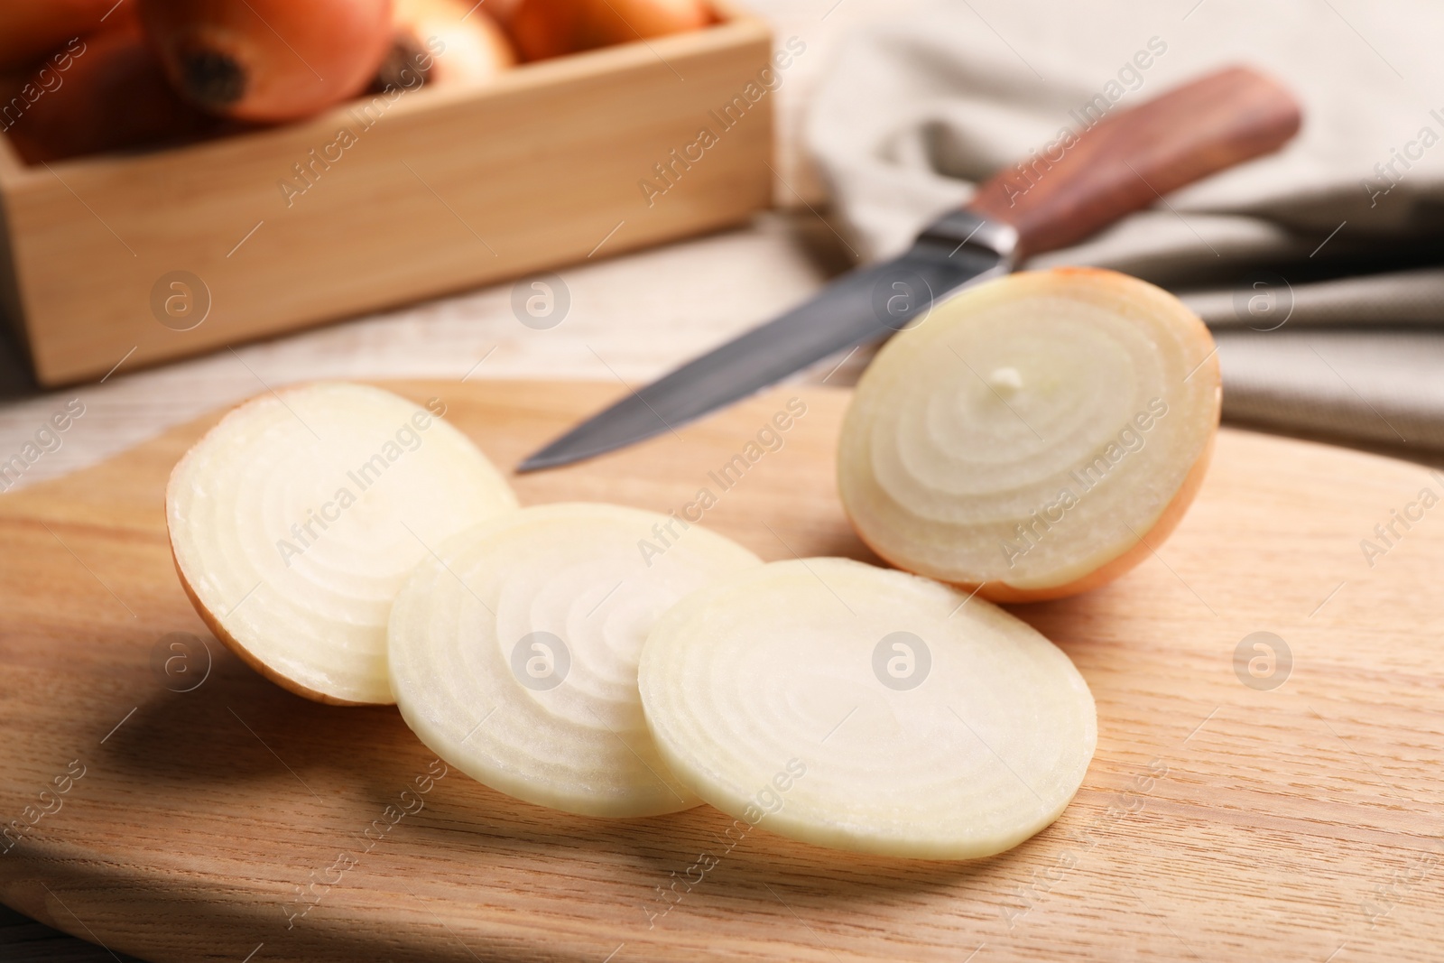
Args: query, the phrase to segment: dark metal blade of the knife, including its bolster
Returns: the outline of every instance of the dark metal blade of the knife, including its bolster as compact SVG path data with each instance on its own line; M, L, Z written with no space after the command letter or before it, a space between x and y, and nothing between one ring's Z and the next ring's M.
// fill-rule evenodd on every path
M901 257L845 274L784 315L632 391L517 471L567 465L676 430L829 355L917 323L934 302L1011 271L1017 243L1012 227L954 211Z

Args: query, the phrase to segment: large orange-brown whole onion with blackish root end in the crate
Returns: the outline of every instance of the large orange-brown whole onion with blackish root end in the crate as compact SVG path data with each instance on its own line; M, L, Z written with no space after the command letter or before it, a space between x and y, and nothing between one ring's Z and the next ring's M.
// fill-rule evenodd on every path
M140 0L166 72L224 117L308 117L360 94L391 49L390 0Z

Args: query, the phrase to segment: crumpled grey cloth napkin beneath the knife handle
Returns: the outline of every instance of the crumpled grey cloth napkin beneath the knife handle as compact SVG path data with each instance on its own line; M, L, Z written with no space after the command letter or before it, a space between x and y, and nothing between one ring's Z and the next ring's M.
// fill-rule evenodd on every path
M1304 107L1284 150L1028 267L1112 267L1178 293L1214 329L1232 420L1437 450L1440 36L1444 6L1427 0L953 0L852 36L806 144L859 250L882 258L1064 130L1225 65L1269 72Z

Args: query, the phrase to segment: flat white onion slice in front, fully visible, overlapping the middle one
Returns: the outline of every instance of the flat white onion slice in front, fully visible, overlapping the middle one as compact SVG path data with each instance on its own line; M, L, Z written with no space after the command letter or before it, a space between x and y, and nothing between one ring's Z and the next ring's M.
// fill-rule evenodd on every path
M638 677L673 772L820 846L970 859L1051 823L1093 757L1087 683L1002 609L846 559L775 562L664 615Z

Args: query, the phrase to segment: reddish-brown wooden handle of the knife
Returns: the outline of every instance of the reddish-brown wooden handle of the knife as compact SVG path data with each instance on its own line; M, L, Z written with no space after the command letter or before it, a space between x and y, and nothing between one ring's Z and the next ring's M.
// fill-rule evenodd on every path
M967 206L1015 227L1021 260L1082 241L1170 191L1278 150L1298 126L1298 103L1284 87L1232 66L1105 114L1071 140L995 175Z

